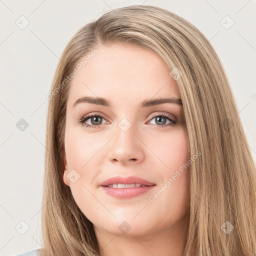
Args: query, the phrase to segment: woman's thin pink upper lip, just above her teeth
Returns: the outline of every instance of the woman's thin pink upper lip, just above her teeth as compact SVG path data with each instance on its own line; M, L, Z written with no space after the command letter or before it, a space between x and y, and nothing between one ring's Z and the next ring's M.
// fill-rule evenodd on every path
M148 180L145 180L143 178L139 178L136 176L128 176L128 177L114 176L104 180L102 183L100 183L100 186L107 186L109 184L120 184L120 183L121 184L139 183L147 186L155 185L154 183L151 183Z

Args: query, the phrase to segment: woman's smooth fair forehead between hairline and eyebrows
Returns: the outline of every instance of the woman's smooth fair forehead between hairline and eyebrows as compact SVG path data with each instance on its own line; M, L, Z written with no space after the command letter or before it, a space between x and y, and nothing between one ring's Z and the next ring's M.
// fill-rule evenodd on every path
M97 49L98 53L72 78L67 104L81 96L104 97L112 102L180 97L168 66L153 51L130 44L101 45Z

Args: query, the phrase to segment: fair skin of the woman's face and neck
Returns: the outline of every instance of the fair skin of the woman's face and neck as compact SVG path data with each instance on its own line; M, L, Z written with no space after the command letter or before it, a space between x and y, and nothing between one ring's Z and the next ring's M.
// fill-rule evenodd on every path
M180 99L176 81L150 50L124 44L97 49L99 53L72 78L69 88L63 181L93 223L100 256L181 256L188 230L189 168L154 201L149 196L189 159L182 105L139 106L145 99ZM83 96L103 97L111 106L88 102L73 106ZM85 114L95 112L103 118L94 122L88 118L84 124L96 128L79 123ZM162 116L162 121L155 116ZM131 124L126 131L118 126L123 118ZM176 123L168 125L174 118ZM75 182L67 177L72 169L80 175ZM114 198L99 184L115 175L138 176L155 186L131 198ZM118 228L123 221L130 226L126 233Z

